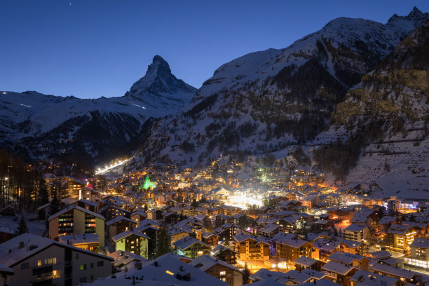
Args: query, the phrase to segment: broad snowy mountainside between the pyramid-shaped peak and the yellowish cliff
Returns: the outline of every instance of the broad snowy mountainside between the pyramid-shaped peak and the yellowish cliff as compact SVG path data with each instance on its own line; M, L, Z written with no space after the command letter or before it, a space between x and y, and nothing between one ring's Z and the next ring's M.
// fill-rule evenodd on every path
M417 9L385 25L338 18L288 48L222 65L188 108L154 125L130 168L196 165L222 153L264 154L314 139L348 88L428 18Z

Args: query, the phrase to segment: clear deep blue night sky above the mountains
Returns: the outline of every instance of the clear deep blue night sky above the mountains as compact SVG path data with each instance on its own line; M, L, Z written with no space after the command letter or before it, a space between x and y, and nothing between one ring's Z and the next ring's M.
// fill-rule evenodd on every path
M0 90L121 96L156 54L199 88L221 64L285 48L334 18L385 23L413 6L429 12L427 0L0 0Z

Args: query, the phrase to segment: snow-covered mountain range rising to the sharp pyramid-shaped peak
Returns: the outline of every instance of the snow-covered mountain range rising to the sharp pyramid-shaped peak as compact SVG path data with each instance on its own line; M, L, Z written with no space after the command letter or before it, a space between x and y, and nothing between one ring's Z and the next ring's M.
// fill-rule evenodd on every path
M129 155L149 118L182 109L195 93L196 88L171 74L159 55L122 97L83 100L3 91L1 146L24 158L73 156L89 165Z

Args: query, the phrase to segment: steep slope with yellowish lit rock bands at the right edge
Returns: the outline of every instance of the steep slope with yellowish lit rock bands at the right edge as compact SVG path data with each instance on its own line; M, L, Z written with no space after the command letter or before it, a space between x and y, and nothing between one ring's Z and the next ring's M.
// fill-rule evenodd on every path
M379 196L427 198L428 63L429 22L425 22L338 104L332 128L321 137L342 135L362 144L355 168L344 174L347 184L363 183ZM322 160L336 153L323 148L325 156L315 152Z

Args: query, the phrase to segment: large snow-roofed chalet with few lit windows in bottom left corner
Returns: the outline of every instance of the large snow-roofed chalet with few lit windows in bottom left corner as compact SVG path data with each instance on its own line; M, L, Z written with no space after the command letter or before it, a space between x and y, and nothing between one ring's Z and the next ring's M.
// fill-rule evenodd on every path
M78 247L24 233L0 245L0 264L12 268L10 285L65 285L111 275L114 261Z

